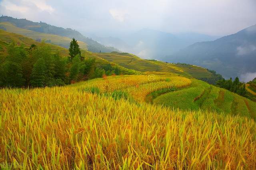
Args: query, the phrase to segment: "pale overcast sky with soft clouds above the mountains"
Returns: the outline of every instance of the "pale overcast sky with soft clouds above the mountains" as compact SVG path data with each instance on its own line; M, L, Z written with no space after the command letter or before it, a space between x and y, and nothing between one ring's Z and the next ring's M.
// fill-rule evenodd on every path
M256 0L0 0L0 14L99 36L142 28L224 36L256 24Z

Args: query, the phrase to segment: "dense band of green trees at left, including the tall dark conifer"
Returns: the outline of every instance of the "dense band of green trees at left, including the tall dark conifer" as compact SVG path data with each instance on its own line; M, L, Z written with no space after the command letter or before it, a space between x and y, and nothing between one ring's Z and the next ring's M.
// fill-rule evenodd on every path
M69 56L53 52L44 42L29 48L8 45L8 55L0 60L0 87L52 87L77 81L120 74L117 67L96 67L95 59L84 58L77 41L70 42Z

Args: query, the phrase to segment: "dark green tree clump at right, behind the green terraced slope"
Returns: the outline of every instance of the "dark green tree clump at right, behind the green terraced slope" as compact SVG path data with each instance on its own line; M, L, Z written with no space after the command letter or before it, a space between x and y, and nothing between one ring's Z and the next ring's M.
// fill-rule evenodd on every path
M234 81L232 81L232 78L229 80L219 80L216 82L216 86L237 93L238 95L246 96L245 84L240 82L238 77L236 77Z

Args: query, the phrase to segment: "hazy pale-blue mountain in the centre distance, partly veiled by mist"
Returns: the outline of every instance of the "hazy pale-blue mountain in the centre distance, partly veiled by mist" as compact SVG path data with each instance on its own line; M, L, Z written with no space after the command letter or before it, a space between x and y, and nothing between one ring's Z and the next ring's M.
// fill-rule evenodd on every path
M150 29L142 29L118 38L95 36L93 38L104 45L111 45L121 51L148 59L160 59L195 42L216 39L213 36L197 33L170 34Z

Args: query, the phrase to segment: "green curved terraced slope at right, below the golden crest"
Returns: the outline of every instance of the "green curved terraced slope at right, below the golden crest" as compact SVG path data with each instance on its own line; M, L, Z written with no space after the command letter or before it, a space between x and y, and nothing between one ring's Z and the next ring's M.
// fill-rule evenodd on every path
M216 111L256 120L256 103L198 80L192 80L189 88L156 97L153 103L184 110Z

